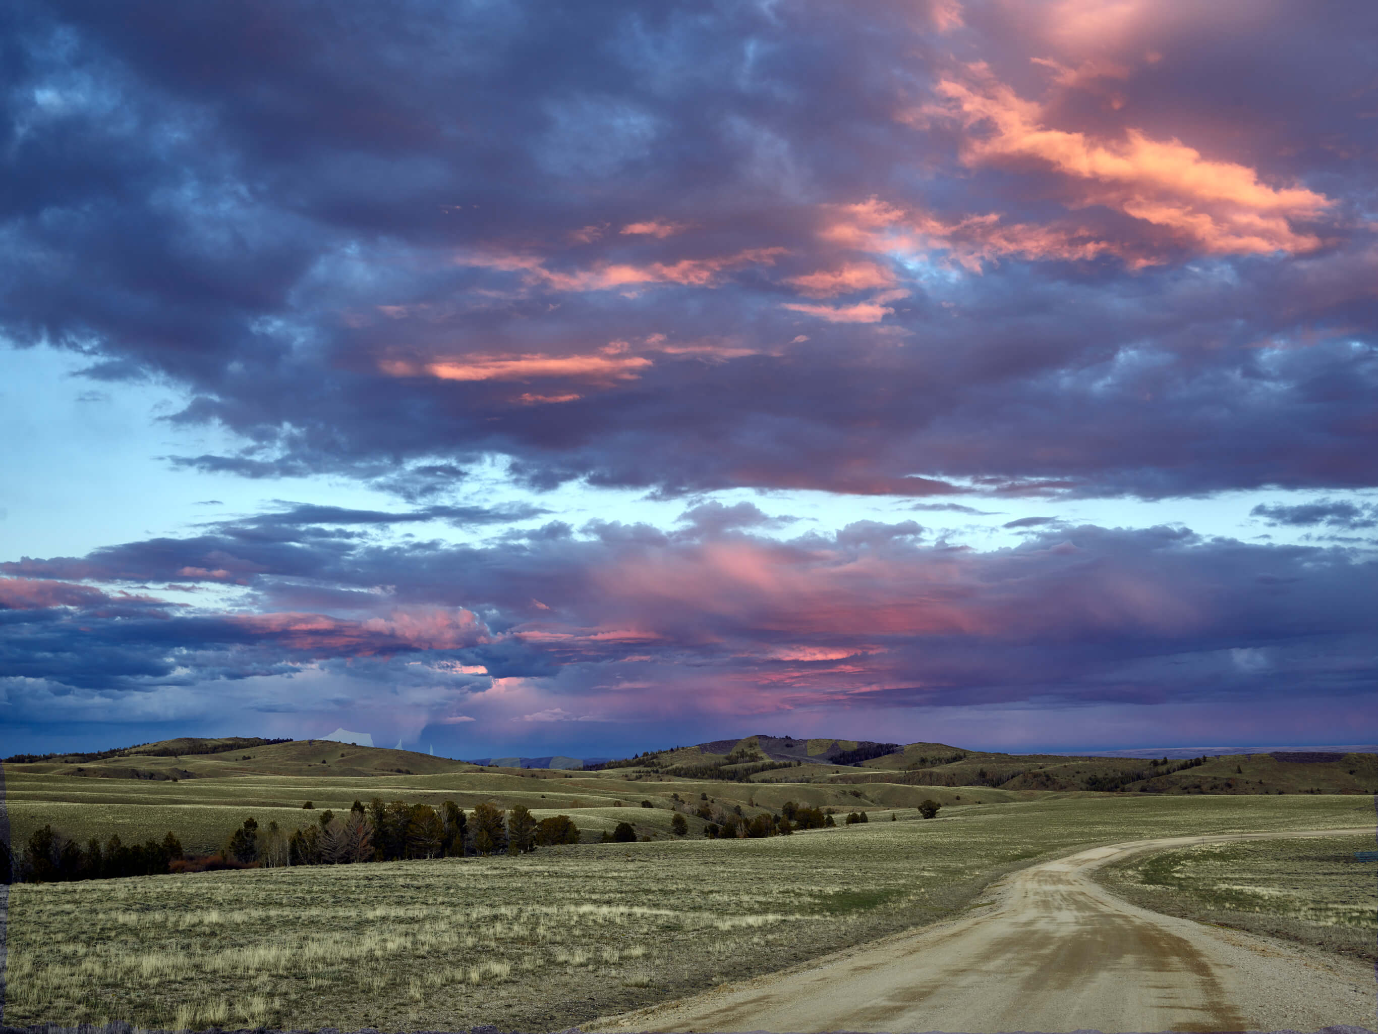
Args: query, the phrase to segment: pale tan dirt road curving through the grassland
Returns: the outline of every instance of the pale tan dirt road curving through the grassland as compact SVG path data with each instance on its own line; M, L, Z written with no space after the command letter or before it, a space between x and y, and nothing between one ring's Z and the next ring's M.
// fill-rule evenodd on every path
M1372 829L1142 840L1025 869L989 904L587 1031L1375 1028L1374 969L1138 909L1090 874L1127 853Z

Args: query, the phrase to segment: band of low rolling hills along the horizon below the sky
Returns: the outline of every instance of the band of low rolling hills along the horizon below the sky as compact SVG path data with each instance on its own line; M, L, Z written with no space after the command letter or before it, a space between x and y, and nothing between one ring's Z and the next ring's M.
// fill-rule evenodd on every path
M413 750L354 746L329 739L258 736L181 738L117 750L19 754L7 764L34 772L92 779L185 780L274 776L429 776L480 769L579 771L639 779L657 773L730 783L883 783L941 789L988 787L1010 793L1134 794L1371 794L1378 754L1271 751L1196 758L1005 754L948 743L744 736L652 750L630 758L496 757L474 761Z

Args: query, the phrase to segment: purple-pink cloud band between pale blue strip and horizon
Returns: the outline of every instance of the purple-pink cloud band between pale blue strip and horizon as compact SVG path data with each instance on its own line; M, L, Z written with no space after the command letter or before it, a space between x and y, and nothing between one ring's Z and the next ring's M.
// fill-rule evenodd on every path
M1378 579L1345 550L1064 527L977 551L929 543L912 521L772 539L752 510L699 507L692 534L674 535L598 525L486 546L311 540L311 562L278 553L252 576L248 611L7 578L4 598L25 609L0 611L0 662L12 677L117 695L310 671L357 700L390 682L449 687L416 704L420 721L484 720L466 702L489 699L495 678L521 681L520 699L539 704L513 720L546 721L627 707L1152 703L1164 685L1184 699L1235 699L1259 692L1258 666L1239 660L1255 655L1235 651L1265 647L1268 670L1286 674L1265 688L1275 696L1360 692L1374 676ZM88 574L119 556L171 565L197 549L204 539L25 562ZM389 593L372 591L384 578ZM543 680L561 695L546 695ZM605 700L633 681L661 689L635 704Z

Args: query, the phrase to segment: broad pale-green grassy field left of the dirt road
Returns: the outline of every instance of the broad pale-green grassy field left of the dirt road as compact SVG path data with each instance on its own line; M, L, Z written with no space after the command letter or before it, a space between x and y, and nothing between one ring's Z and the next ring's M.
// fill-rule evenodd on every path
M555 783L531 786L551 800ZM6 1019L559 1030L930 922L1082 845L1356 826L1372 807L1123 794L900 813L755 841L17 885Z

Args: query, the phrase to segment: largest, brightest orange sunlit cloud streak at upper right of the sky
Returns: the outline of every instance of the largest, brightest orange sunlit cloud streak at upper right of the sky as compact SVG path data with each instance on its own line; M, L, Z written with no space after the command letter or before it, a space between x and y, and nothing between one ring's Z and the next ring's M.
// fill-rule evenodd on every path
M1323 212L1330 199L1301 186L1272 187L1257 171L1204 159L1181 141L1155 141L1127 128L1120 141L1043 125L1043 109L998 81L984 65L969 83L944 79L948 114L967 130L967 165L1032 161L1076 186L1073 207L1104 205L1170 232L1209 255L1304 252L1320 239L1291 222Z

